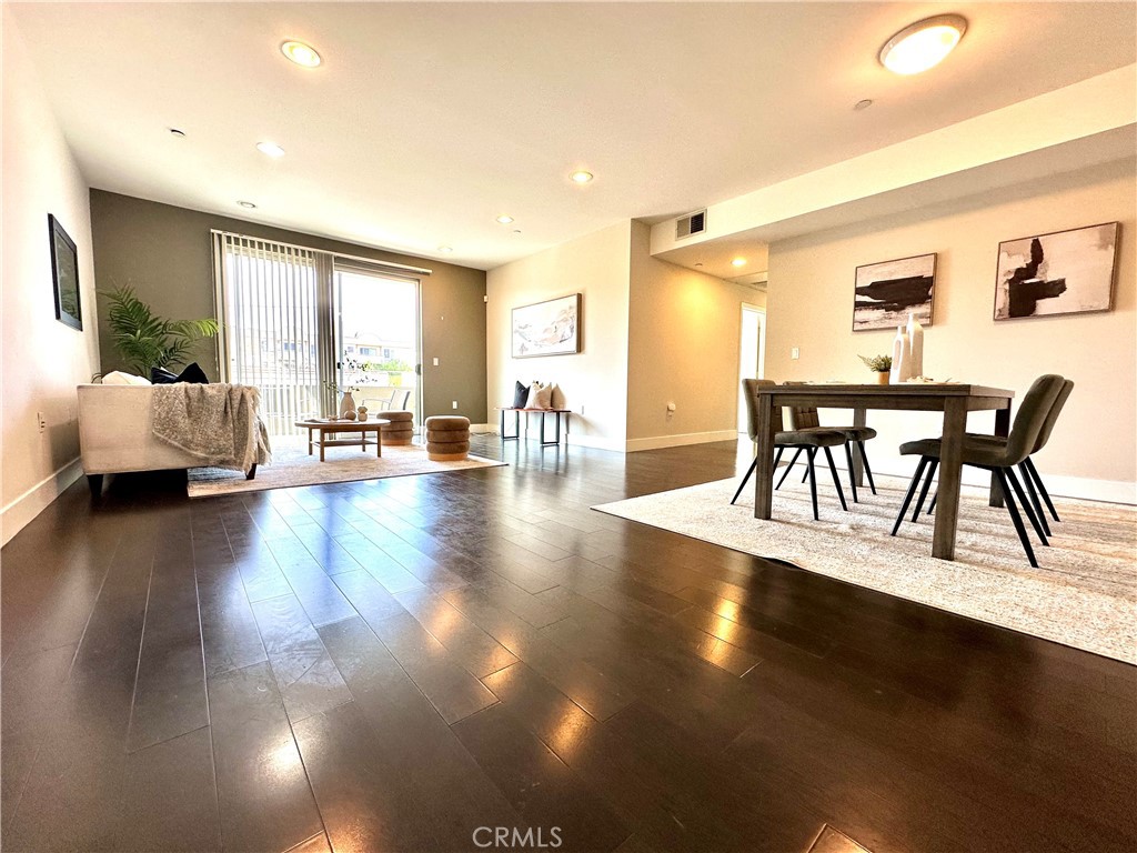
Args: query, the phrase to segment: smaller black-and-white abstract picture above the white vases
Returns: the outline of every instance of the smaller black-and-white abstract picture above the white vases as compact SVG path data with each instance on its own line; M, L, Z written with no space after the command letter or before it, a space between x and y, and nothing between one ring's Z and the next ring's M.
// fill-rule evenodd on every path
M895 329L915 314L921 325L931 325L936 252L897 260L882 260L856 268L853 297L853 331Z

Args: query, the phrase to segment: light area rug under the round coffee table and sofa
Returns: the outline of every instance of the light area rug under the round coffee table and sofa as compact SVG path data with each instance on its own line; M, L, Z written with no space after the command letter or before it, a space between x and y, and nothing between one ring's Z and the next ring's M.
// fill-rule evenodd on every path
M358 447L327 448L326 461L319 461L319 450L308 455L307 446L274 441L273 461L257 469L252 480L240 471L217 467L194 467L188 473L186 491L191 498L233 495L241 491L289 489L296 486L350 482L352 480L381 480L387 477L435 474L465 471L474 467L497 467L504 462L470 456L459 462L433 462L426 458L426 448L383 446L383 455L375 456L375 448L363 453Z

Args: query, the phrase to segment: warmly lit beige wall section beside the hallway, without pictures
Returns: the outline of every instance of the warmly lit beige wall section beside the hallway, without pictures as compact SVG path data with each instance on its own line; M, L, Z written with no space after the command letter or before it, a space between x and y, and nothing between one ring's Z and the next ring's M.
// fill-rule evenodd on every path
M733 439L742 304L765 295L657 260L650 239L632 223L628 449Z

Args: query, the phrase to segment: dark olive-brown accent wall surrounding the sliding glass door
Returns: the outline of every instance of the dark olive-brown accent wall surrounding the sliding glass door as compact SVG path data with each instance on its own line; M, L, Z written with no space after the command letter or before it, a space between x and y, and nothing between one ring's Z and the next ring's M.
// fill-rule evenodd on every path
M101 289L131 284L160 314L177 320L214 316L210 229L387 260L433 271L422 282L423 413L460 414L482 423L485 397L485 273L438 260L397 255L243 220L91 190L94 272ZM100 306L101 307L101 306ZM106 309L100 310L106 323ZM102 362L118 366L109 336ZM216 351L196 354L210 378ZM433 366L433 359L439 366ZM458 409L451 401L458 401Z

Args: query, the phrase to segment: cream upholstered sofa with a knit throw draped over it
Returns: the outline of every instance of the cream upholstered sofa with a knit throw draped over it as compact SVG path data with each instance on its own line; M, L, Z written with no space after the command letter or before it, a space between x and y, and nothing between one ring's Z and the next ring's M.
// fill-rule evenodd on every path
M102 494L103 474L166 471L201 465L201 459L153 434L153 386L78 386L78 438L91 494ZM248 472L251 480L254 465Z

